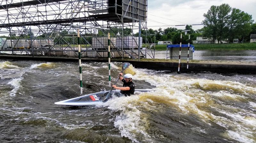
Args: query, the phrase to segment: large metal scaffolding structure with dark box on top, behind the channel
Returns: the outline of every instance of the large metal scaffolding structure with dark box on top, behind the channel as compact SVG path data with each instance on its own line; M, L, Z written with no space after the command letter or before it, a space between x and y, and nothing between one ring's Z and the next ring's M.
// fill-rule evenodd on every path
M147 3L147 0L3 0L0 53L78 56L76 31L80 29L83 57L107 57L109 32L112 57L154 58L154 44L147 40L150 37ZM151 45L148 48L142 47L142 39L135 35L139 23L141 30L146 31L144 41Z

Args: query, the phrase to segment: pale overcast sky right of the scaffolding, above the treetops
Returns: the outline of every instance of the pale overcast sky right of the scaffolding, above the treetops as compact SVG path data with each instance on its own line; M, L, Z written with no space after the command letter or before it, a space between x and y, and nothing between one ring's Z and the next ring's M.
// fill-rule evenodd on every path
M185 29L185 26L201 24L204 13L212 5L229 4L230 7L240 9L250 15L256 22L256 0L148 0L148 28L153 30L174 27ZM194 30L203 28L202 25L192 26Z

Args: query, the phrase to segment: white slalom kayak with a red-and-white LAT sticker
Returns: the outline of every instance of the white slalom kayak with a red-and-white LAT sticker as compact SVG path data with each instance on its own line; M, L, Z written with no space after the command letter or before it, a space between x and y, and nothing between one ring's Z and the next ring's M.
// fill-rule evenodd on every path
M152 89L135 89L136 92L149 92ZM70 105L70 106L89 106L89 105L97 105L99 103L103 103L102 100L108 94L109 91L101 91L93 94L87 94L80 97L75 97L59 102L55 102L57 105ZM111 96L122 96L120 90L113 90Z

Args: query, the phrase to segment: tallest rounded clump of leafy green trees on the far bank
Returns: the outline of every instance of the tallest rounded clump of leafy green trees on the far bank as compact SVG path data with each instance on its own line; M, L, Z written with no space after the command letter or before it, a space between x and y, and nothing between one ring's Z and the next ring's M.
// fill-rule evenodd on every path
M233 41L234 38L248 37L252 26L252 15L228 4L212 5L204 13L203 36L218 42L223 40Z

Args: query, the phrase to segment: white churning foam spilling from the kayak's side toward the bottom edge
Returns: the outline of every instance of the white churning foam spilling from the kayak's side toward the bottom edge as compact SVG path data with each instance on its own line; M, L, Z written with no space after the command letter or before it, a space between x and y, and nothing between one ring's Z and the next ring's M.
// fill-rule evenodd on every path
M108 109L121 111L114 121L114 126L119 129L121 136L129 138L133 142L139 142L137 136L145 139L150 137L146 132L147 118L141 115L143 114L140 110L141 107L133 104L138 99L139 96L132 95L129 97L113 98L107 102ZM147 104L144 105L148 106Z

